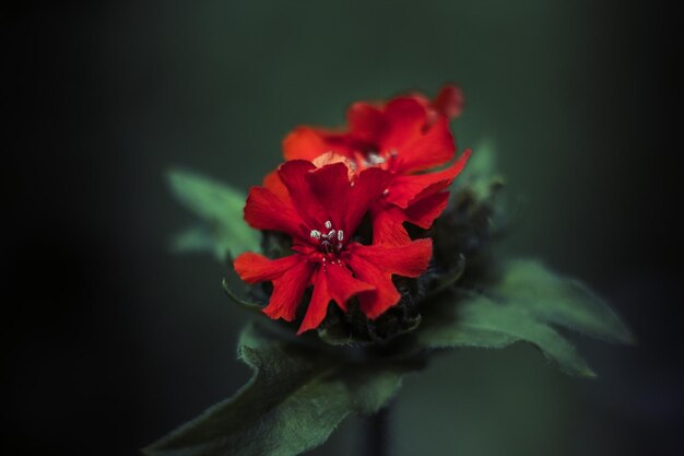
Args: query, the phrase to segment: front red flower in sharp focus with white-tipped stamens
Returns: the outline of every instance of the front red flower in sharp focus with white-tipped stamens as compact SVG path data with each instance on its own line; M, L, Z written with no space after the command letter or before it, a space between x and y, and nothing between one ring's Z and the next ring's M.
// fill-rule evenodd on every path
M363 217L391 179L387 171L363 171L352 183L342 163L317 168L295 160L283 164L278 177L274 191L250 189L245 220L255 229L292 236L294 254L271 260L246 253L234 262L246 282L273 282L273 293L263 309L271 318L295 319L310 284L314 292L298 334L320 325L331 300L346 311L346 302L357 296L362 312L376 318L399 302L392 274L417 277L427 268L431 239L401 247L353 241Z

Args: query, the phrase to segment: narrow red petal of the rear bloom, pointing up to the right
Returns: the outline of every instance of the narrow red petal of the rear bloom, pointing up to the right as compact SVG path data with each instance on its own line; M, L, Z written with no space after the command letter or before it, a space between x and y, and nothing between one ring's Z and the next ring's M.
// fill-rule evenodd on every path
M388 188L387 201L406 208L413 200L444 190L463 171L470 155L471 150L468 149L451 166L435 173L396 176Z

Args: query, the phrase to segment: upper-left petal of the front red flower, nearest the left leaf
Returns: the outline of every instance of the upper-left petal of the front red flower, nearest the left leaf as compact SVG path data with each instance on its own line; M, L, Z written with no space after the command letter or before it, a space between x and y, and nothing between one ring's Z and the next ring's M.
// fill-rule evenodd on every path
M245 204L245 220L257 230L273 230L303 238L299 213L263 187L252 187Z

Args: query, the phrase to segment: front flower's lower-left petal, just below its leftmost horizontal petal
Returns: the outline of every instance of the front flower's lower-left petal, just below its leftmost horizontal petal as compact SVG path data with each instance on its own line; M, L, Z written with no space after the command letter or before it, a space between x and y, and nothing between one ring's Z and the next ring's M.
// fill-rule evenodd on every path
M283 318L286 321L295 319L297 307L315 267L315 264L305 259L273 280L273 294L271 294L269 305L263 308L263 313L273 319Z

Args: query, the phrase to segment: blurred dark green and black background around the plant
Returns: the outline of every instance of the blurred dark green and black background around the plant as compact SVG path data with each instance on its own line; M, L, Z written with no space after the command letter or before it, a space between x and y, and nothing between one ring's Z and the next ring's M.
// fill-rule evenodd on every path
M294 126L447 81L458 144L491 141L522 201L502 250L581 278L639 346L577 338L595 381L527 346L439 356L404 382L392 454L681 454L681 46L658 1L1 8L3 454L134 455L249 378L226 271L169 253L193 219L166 169L247 189ZM312 454L359 454L361 425Z

